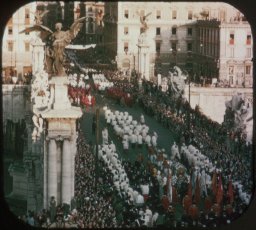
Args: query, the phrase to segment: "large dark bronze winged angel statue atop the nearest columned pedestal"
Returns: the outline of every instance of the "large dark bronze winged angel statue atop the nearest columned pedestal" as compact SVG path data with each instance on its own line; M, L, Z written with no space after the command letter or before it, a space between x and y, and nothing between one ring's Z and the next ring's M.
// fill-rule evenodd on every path
M55 32L52 32L48 27L35 24L32 27L28 27L20 33L29 33L32 31L39 31L39 37L43 42L48 45L46 47L46 71L51 73L52 76L63 77L66 73L63 69L65 63L65 46L69 45L71 40L76 37L79 30L82 27L82 21L87 17L82 17L72 24L69 30L62 31L62 23L58 22L55 24Z

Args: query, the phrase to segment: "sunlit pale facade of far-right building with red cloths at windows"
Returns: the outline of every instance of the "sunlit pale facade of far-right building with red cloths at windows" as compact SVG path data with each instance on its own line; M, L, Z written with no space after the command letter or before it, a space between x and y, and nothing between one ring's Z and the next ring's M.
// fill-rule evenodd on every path
M229 84L253 85L253 37L248 22L234 21L220 25L220 79Z

